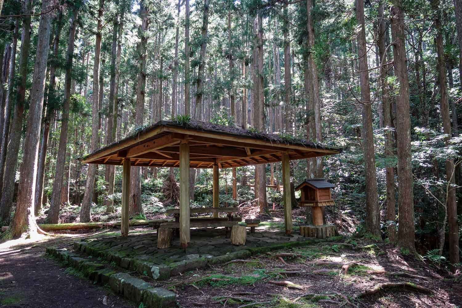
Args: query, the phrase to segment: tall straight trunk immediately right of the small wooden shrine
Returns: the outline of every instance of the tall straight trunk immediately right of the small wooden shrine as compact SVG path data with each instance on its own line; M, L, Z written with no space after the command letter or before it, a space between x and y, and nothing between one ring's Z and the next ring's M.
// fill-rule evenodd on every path
M366 231L380 238L380 209L377 200L377 177L375 168L374 134L372 133L372 102L367 64L366 31L364 21L364 0L356 0L358 32L359 84L363 105L363 151L366 184Z

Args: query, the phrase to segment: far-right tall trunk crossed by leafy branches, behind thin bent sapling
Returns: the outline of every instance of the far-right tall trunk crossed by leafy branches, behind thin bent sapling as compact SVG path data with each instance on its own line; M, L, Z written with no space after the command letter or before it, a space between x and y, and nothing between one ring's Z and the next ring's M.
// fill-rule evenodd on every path
M443 133L446 135L444 142L450 144L451 139L451 120L449 116L448 85L446 81L446 62L444 60L443 27L441 24L441 11L439 0L432 0L432 8L435 14L436 49L437 49L437 70L440 94L440 110L443 120ZM446 159L446 181L450 183L446 197L446 207L448 212L449 227L449 262L453 272L459 269L459 226L457 223L457 202L456 202L456 183L454 177L454 159Z

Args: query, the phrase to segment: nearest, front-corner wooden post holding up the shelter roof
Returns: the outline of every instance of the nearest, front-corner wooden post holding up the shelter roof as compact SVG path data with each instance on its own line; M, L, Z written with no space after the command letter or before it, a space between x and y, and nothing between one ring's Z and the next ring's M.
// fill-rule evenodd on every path
M189 229L189 145L180 144L180 244L183 249L191 241Z

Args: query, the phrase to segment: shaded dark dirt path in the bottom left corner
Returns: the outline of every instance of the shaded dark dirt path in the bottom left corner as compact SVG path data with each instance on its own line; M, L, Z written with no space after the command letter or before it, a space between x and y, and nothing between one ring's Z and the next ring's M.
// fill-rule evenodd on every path
M103 304L106 297L107 305ZM43 247L0 251L0 307L133 308L104 287L66 273Z

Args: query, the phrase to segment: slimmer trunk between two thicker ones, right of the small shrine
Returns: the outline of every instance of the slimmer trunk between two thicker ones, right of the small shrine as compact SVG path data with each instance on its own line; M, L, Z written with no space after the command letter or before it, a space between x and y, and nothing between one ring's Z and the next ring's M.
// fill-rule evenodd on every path
M391 102L389 98L389 89L386 84L387 68L384 63L387 59L386 54L386 35L387 25L384 12L384 2L380 1L378 7L378 49L379 49L379 66L380 66L380 85L382 86L382 109L383 109L383 126L385 135L385 177L387 182L387 230L390 242L396 241L396 200L395 200L395 172L394 172L394 153L393 153L393 133L391 124Z

